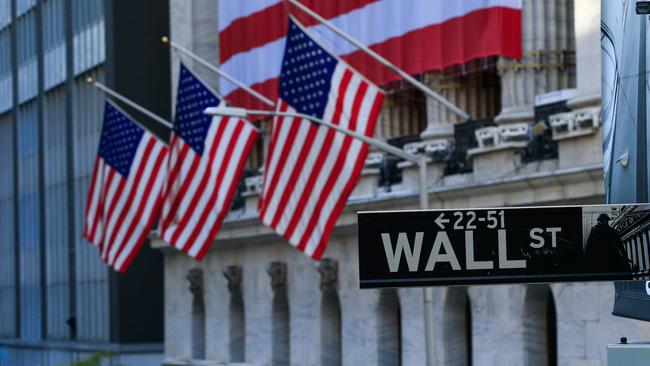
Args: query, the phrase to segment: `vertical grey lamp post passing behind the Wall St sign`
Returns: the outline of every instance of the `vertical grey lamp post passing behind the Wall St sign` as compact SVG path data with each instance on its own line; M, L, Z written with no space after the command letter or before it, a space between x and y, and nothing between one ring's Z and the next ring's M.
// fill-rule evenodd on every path
M426 210L429 208L429 194L427 191L427 158L420 156L418 161L418 181L420 190L420 209ZM425 287L422 289L422 296L424 298L424 329L426 339L427 351L427 365L433 366L436 364L436 331L435 331L435 308L433 305L433 289Z

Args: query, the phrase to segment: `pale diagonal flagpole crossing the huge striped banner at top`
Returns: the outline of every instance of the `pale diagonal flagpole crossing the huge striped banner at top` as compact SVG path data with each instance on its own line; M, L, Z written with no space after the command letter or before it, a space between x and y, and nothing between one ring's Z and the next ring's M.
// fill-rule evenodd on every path
M463 120L467 121L468 119L470 119L470 116L469 116L469 114L467 114L467 112L465 112L462 109L458 108L458 106L456 106L452 102L445 99L442 95L440 95L440 94L436 93L435 91L431 90L431 88L424 85L422 82L415 79L414 77L409 75L406 71L400 69L399 67L397 67L392 62L386 60L384 57L379 55L377 52L371 50L370 48L366 47L361 42L359 42L356 39L352 38L349 34L345 33L344 31L339 29L337 26L332 24L330 21L328 21L327 19L320 16L320 14L318 14L315 11L311 10L307 6L301 4L297 0L287 0L287 1L289 1L291 4L295 5L296 7L300 8L300 10L302 10L305 13L309 14L314 19L318 20L324 26L331 29L334 33L336 33L339 36L343 37L346 41L352 43L358 49L362 50L363 52L367 53L368 55L370 55L375 60L379 61L379 63L381 63L382 65L384 65L387 68L393 70L399 76L404 78L404 80L408 81L411 85L413 85L416 88L420 89L424 94L426 94L426 95L432 97L433 99L437 100L438 102L442 103L445 107L449 108L449 110L451 110L457 116L461 117Z

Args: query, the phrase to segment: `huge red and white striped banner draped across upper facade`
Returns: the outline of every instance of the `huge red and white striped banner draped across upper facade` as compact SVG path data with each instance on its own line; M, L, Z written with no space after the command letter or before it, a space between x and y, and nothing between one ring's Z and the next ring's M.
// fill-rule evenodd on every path
M522 0L300 0L409 74L488 57L522 54ZM377 85L399 76L284 0L219 2L221 67L271 99L277 97L287 9L322 44ZM264 60L264 62L260 62ZM240 106L265 108L242 89L221 92Z

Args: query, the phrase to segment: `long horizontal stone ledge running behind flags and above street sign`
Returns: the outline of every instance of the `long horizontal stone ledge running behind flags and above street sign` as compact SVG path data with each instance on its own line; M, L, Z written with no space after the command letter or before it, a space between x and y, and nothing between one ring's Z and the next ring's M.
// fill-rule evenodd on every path
M531 202L543 204L575 201L604 194L602 164L541 171L506 178L485 179L480 182L429 189L429 205L436 208L517 206ZM502 199L495 198L501 197ZM480 204L475 202L478 198ZM369 199L349 200L335 226L335 232L354 231L359 211L417 210L417 192L391 192ZM333 233L334 235L334 233ZM155 233L151 246L168 253L181 253ZM280 237L263 225L257 215L227 218L214 248L243 245L264 245ZM243 241L243 242L242 242Z

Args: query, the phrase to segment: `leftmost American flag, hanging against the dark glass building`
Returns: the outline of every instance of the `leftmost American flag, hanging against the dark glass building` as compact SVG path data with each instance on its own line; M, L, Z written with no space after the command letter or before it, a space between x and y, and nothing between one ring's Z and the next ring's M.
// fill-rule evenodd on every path
M106 102L83 236L117 271L128 268L160 209L167 151L165 144Z

